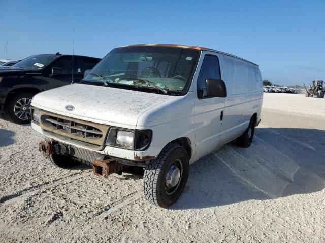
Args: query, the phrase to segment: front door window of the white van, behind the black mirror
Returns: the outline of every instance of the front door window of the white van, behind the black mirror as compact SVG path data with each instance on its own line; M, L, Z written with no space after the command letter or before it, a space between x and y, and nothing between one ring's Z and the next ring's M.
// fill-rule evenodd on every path
M199 99L207 98L205 80L208 78L220 79L219 59L216 56L205 55L197 82Z

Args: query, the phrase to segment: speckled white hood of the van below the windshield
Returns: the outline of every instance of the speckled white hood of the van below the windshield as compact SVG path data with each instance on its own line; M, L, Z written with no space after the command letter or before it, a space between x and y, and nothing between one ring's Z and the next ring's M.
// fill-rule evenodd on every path
M31 106L60 115L135 129L138 118L174 96L105 86L72 84L41 92ZM73 110L65 107L71 105Z

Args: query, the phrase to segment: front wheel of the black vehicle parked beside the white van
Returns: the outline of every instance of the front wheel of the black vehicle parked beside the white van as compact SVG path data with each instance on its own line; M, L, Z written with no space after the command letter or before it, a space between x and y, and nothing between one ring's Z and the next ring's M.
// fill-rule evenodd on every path
M15 93L7 98L5 112L10 121L17 124L30 123L30 102L33 96L31 93Z

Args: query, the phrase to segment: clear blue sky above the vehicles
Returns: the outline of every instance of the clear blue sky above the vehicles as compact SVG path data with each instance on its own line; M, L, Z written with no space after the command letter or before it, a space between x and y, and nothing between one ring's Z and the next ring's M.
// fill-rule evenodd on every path
M104 57L137 43L204 46L260 65L283 85L325 79L325 0L0 0L0 59L40 53Z

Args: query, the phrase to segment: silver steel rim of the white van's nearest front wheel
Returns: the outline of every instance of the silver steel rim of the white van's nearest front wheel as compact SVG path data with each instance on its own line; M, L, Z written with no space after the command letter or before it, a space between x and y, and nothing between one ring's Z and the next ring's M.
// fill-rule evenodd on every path
M168 168L165 177L165 191L167 195L174 194L181 184L183 166L179 159L176 159Z

